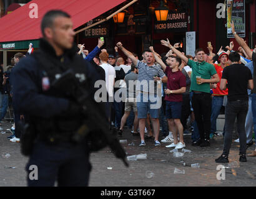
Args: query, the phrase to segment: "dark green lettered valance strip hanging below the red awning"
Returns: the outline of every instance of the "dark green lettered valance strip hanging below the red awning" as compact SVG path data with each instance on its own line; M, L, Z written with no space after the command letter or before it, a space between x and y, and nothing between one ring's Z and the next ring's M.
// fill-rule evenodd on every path
M26 40L16 42L2 42L0 43L0 50L21 50L29 49L29 44L32 43L34 48L39 47L39 40Z

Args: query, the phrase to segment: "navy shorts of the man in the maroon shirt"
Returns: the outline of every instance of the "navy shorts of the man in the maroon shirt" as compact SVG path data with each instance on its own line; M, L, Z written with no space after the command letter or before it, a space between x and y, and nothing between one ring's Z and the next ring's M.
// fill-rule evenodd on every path
M165 101L165 113L167 119L180 119L182 111L182 101Z

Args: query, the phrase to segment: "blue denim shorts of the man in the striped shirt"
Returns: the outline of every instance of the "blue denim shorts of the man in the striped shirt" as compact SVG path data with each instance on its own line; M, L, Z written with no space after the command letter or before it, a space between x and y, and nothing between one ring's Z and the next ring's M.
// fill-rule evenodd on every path
M159 118L159 110L162 105L161 97L157 94L139 93L136 96L138 118L145 119L149 112L151 118Z

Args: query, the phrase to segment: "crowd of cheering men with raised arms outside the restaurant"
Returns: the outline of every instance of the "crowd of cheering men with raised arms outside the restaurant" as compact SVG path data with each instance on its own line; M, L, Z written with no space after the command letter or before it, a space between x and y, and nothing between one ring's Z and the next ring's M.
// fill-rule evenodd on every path
M132 134L140 135L139 146L145 146L145 139L154 139L155 146L160 146L161 123L162 134L166 136L161 142L169 143L165 147L182 149L185 147L184 130L188 128L187 119L190 117L192 145L207 147L210 146L210 139L217 134L216 121L220 109L225 106L225 147L224 153L216 162L228 161L236 117L240 160L246 161L246 149L253 144L254 94L250 92L254 91L252 74L256 48L252 52L235 33L234 25L232 27L235 39L240 45L237 51L233 50L234 42L225 47L227 51L221 47L216 54L213 53L212 45L208 45L209 54L197 49L195 57L184 55L177 50L179 43L172 46L168 39L161 40L161 44L170 49L164 57L160 57L154 48L150 47L142 53L141 60L135 53L129 52L121 42L115 47L115 55L109 55L105 49L100 50L104 45L102 40L99 40L97 52L88 53L84 50L84 45L78 45L79 53L82 52L85 58L90 57L92 53L101 52L99 58L94 59L94 64L97 68L104 69L107 93L109 96L115 96L114 103L109 103L109 110L112 108L112 112L109 111L109 120L119 135L122 136L127 118L129 119L129 114L133 111L135 117L130 117L134 118ZM126 55L126 65L117 47ZM119 80L124 81L114 88L115 82ZM130 81L136 81L132 89ZM125 87L125 101L117 101L116 92ZM160 106L157 106L159 101ZM150 132L149 136L145 136L145 130ZM250 155L255 156L256 152Z

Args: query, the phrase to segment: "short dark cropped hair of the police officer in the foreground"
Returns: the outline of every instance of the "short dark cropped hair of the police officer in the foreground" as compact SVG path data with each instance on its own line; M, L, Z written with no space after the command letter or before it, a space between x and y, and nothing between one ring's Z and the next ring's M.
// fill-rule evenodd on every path
M44 37L46 36L44 34L44 29L46 29L46 27L52 27L54 19L56 17L70 18L71 16L69 14L67 14L67 12L64 12L61 10L52 10L52 11L46 12L46 14L42 18L42 22L41 22L41 31L42 31L42 35Z

